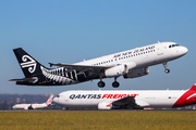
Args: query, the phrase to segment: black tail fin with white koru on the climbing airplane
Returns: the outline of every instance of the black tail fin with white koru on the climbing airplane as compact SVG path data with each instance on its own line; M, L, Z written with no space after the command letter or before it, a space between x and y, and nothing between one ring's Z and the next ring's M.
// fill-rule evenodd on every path
M26 78L42 75L40 69L40 66L42 65L37 62L33 56L30 56L27 52L25 52L22 48L14 49L13 52Z

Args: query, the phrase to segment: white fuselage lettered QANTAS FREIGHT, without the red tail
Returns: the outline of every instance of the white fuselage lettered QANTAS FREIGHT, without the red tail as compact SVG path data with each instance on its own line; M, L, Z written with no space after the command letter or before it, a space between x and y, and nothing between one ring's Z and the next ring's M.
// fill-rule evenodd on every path
M97 107L99 102L113 102L121 95L135 95L136 103L145 107L172 107L185 91L68 91L53 102L66 107ZM81 96L79 96L81 94ZM108 98L108 95L111 98ZM75 98L74 98L75 95ZM87 95L82 98L82 95ZM97 99L99 98L100 99ZM89 98L88 98L89 96ZM105 98L106 96L106 98ZM119 98L120 96L120 98ZM72 99L73 98L73 99ZM58 101L57 101L58 100Z

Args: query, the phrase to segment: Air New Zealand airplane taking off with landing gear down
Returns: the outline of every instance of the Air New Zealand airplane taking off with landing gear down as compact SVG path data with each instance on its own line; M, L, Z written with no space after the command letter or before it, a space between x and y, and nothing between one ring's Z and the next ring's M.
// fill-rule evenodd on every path
M117 78L120 76L124 79L146 76L149 74L148 67L152 65L162 64L164 72L170 73L167 63L185 55L187 51L175 42L158 42L75 64L49 63L50 67L59 67L52 69L41 65L22 48L17 48L13 52L25 78L10 81L25 86L68 86L99 79L98 87L103 88L103 78L114 78L112 87L118 88L120 83Z

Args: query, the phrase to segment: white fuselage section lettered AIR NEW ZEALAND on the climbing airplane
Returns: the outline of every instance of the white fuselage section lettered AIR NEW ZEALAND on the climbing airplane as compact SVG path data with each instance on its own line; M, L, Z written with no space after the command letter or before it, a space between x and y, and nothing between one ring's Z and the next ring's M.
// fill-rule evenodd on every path
M187 49L185 47L172 47L172 44L176 43L155 43L142 48L119 52L115 54L79 62L75 65L115 66L118 64L134 62L136 64L136 68L142 68L163 62L169 62L179 58L187 53Z

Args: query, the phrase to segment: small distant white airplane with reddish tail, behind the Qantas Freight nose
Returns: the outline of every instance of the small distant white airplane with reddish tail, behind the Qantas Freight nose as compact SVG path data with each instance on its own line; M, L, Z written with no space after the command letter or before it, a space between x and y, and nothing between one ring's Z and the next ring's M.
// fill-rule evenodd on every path
M46 103L41 103L41 104L15 104L14 106L12 106L13 109L37 109L37 108L45 108L48 107L49 105L51 105L52 103L52 99L54 95L50 95L50 98L48 99L48 101Z

